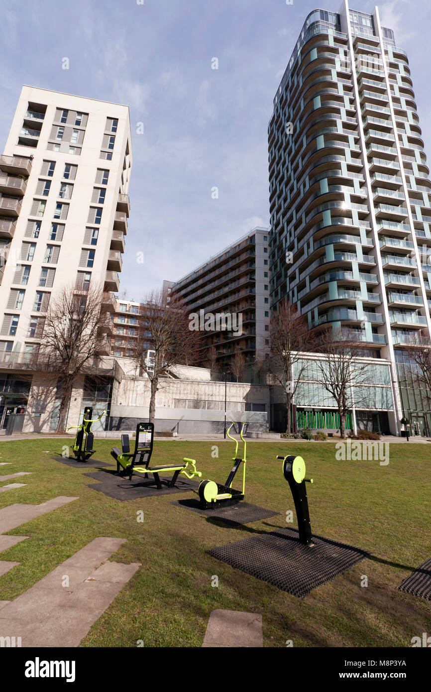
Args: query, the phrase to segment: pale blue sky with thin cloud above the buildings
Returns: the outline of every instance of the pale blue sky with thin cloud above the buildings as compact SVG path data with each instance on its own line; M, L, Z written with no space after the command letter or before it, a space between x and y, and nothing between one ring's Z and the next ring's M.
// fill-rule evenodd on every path
M375 4L350 6L371 12ZM143 300L163 280L268 226L273 97L318 7L338 12L340 1L0 0L0 149L23 84L130 108L134 165L120 295ZM431 153L431 2L387 0L378 8L407 51Z

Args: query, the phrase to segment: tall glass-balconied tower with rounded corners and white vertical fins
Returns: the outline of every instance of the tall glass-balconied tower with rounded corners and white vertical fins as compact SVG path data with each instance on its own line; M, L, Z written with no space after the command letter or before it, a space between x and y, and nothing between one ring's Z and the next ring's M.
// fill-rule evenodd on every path
M271 308L287 296L311 329L356 333L404 387L405 347L431 330L431 182L407 55L378 8L311 12L273 107ZM392 431L405 413L429 435L421 393L394 397Z

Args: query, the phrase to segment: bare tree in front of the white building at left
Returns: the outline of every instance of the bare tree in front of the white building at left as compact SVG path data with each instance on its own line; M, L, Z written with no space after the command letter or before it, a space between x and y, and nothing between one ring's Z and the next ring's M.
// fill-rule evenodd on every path
M94 374L100 356L106 354L102 333L110 319L102 307L102 289L90 286L80 291L63 286L51 298L39 356L46 370L57 372L62 385L57 432L66 428L66 414L73 386L82 374Z

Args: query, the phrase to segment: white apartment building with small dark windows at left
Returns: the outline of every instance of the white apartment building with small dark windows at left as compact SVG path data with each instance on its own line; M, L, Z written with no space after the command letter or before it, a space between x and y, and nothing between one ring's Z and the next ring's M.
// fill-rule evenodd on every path
M23 86L0 156L0 428L53 295L118 291L131 165L127 106Z

